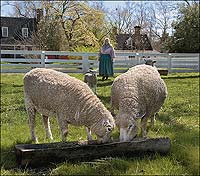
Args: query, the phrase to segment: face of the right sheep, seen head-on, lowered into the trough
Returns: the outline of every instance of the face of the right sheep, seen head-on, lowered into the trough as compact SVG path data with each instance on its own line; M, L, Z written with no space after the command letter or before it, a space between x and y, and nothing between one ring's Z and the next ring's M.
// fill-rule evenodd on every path
M138 133L138 122L128 114L118 116L116 124L120 131L120 142L126 142L133 140Z

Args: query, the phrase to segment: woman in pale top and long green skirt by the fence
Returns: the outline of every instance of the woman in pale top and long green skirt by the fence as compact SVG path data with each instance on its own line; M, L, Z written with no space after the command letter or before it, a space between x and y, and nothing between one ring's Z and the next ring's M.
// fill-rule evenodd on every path
M110 39L105 38L99 51L99 75L102 76L102 81L107 80L109 76L113 76L113 58L115 58L114 48L110 44Z

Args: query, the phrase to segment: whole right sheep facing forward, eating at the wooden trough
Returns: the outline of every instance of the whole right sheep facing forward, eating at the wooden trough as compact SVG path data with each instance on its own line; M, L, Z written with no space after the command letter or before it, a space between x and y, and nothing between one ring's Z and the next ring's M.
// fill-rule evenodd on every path
M111 88L111 108L119 112L116 125L120 141L130 141L138 133L141 118L142 136L146 137L147 120L156 114L167 97L167 87L155 67L137 65L115 78Z

